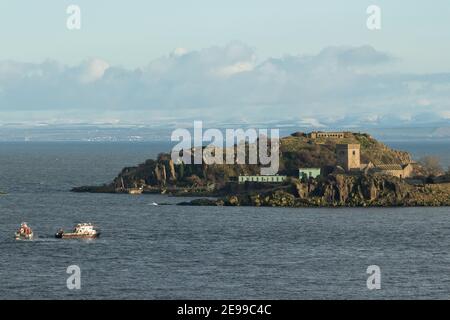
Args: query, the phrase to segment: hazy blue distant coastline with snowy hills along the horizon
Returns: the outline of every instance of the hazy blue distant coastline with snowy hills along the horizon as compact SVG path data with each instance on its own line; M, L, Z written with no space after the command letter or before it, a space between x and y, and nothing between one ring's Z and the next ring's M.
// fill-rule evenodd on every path
M187 123L192 119L181 119ZM323 121L322 121L323 122ZM241 126L240 122L239 126ZM213 123L216 127L226 127L230 123ZM282 135L289 135L295 130L308 131L309 126L298 127L298 121L277 121ZM330 123L327 130L334 127L349 126L355 132L367 132L382 141L449 141L450 127L445 121L429 123L379 123L368 126L366 123ZM270 127L271 122L260 121L246 124L247 127ZM1 142L167 142L170 133L177 124L113 124L113 123L0 123Z

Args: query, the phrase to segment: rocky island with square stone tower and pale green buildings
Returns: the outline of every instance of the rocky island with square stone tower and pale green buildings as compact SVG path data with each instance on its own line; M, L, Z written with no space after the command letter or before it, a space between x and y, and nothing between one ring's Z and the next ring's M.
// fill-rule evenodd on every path
M450 205L448 173L368 134L296 132L280 139L279 159L278 175L262 176L259 164L175 164L170 154L161 153L124 168L111 183L72 191L214 197L181 205Z

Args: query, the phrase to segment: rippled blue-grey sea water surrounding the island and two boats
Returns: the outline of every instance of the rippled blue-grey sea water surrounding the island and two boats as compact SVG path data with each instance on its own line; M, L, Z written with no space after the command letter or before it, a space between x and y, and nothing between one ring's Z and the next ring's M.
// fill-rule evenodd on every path
M392 142L418 156L450 143ZM0 143L0 298L376 299L450 297L449 208L152 206L185 199L75 194L155 156L157 143ZM447 163L448 165L448 163ZM13 240L21 221L38 238ZM93 222L91 241L58 228ZM369 291L378 265L382 289ZM81 268L68 290L66 268Z

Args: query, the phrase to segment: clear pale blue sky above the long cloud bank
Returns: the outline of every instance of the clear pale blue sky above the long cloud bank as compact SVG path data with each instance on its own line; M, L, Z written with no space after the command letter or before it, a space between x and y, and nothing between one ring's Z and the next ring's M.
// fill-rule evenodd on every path
M77 4L82 29L65 28ZM366 8L382 9L382 30L365 27ZM191 50L242 41L261 59L370 44L403 60L409 71L450 69L447 0L1 0L0 59L76 64L101 57L140 67L177 47Z

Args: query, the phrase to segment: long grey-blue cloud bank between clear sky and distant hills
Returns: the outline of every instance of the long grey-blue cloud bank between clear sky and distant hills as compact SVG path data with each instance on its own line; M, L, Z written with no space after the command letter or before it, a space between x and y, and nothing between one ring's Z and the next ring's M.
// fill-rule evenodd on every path
M0 121L292 119L321 127L448 119L450 74L383 72L396 60L360 46L258 61L233 42L177 48L135 70L97 58L71 67L1 61Z

